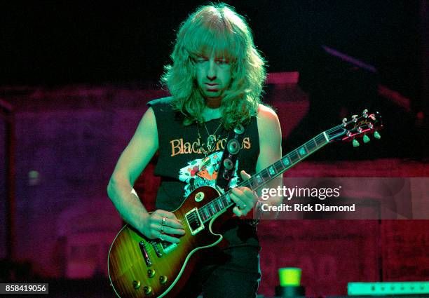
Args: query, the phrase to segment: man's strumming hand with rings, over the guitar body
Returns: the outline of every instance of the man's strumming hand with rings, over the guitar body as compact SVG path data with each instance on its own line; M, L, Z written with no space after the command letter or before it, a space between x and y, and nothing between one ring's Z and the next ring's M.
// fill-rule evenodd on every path
M144 217L139 229L144 236L150 239L161 239L171 243L179 243L179 238L170 235L184 235L184 226L172 212L156 210Z

